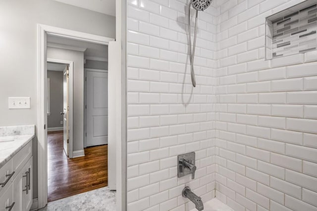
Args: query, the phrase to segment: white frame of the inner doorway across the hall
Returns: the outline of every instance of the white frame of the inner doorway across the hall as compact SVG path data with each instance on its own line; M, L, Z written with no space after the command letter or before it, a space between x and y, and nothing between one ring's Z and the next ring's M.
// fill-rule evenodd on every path
M47 62L56 64L65 64L69 67L69 148L68 157L73 158L73 79L74 62L60 59L47 58ZM46 76L47 78L47 76ZM46 85L45 85L46 86Z

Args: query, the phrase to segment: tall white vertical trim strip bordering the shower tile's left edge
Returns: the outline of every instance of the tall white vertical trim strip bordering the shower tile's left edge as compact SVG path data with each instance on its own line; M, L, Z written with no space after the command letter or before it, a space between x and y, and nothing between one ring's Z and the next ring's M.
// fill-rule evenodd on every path
M120 134L120 141L116 142L115 150L117 166L116 168L116 189L117 189L117 211L127 211L127 0L115 1L115 37L114 42L115 55L120 57L117 64L120 66L120 76L116 81L118 86L117 95L121 95L121 99L116 98L119 106L120 114L116 117L115 126L116 134ZM111 54L109 54L111 56ZM121 82L121 83L120 83ZM119 128L120 127L120 128Z

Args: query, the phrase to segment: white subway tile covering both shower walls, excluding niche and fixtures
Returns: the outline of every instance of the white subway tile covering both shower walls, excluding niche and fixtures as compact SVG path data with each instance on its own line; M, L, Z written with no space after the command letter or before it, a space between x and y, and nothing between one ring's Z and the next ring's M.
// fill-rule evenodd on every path
M193 88L189 1L128 0L129 211L191 210L185 186L235 211L317 211L317 51L264 60L265 17L302 1L213 0ZM195 179L177 178L191 151Z

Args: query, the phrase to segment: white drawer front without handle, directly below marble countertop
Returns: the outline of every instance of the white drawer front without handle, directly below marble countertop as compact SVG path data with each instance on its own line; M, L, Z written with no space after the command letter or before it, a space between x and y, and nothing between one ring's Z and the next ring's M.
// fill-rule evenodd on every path
M12 169L15 172L19 172L26 162L32 156L32 140L29 141L16 155L12 158ZM16 176L16 175L15 175ZM13 176L13 179L15 178Z

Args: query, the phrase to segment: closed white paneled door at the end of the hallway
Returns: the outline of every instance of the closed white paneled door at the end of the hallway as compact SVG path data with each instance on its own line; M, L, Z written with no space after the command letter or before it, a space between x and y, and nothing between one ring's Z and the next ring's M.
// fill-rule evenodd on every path
M108 143L108 74L87 71L87 147Z

